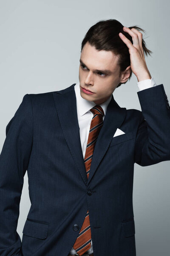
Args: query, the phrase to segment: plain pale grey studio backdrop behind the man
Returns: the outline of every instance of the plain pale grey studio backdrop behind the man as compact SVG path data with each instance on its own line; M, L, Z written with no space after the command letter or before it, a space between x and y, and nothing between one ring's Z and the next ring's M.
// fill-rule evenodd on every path
M156 84L170 99L170 5L168 1L0 0L0 150L5 129L26 93L62 90L77 83L80 47L99 20L116 19L146 30L152 56L145 57ZM114 92L121 107L141 110L137 78ZM170 255L170 161L134 166L133 210L137 256ZM17 232L21 239L31 206L24 177Z

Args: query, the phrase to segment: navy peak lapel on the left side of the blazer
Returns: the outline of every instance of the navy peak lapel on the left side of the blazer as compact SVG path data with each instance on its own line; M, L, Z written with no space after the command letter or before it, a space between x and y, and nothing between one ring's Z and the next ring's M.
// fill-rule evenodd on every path
M79 122L77 118L77 103L74 85L75 84L72 84L64 90L53 92L53 96L65 140L72 157L77 164L82 180L87 184L88 177L86 175L79 136Z

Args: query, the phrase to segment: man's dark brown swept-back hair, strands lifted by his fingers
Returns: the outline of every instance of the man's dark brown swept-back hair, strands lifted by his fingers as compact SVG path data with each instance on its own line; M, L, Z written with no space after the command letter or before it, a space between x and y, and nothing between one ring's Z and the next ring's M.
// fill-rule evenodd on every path
M81 46L81 52L84 45L88 42L91 46L94 46L97 50L105 50L112 51L115 55L119 56L119 66L120 72L124 71L128 66L130 66L130 54L127 45L122 41L119 37L119 32L125 35L133 44L132 37L123 30L123 25L114 19L109 20L100 20L86 33ZM141 30L145 32L144 29L139 28L138 26L130 26L129 29L135 28L138 31ZM144 53L151 54L153 53L149 49L146 48L145 41L142 37L142 47ZM132 76L132 71L130 72L130 77ZM128 81L128 80L127 80ZM126 83L126 82L125 82ZM124 84L125 84L124 83ZM117 87L119 87L122 83L119 83Z

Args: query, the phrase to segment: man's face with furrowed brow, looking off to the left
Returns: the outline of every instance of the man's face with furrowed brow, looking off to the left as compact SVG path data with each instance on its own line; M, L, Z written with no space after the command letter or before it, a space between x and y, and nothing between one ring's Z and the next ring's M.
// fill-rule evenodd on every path
M79 65L79 84L82 98L98 104L105 102L122 81L118 56L111 51L96 50L88 42L84 45ZM83 88L93 92L87 94Z

